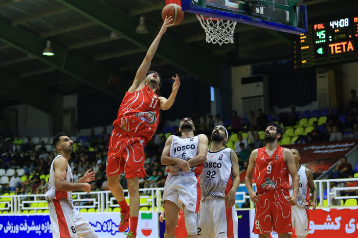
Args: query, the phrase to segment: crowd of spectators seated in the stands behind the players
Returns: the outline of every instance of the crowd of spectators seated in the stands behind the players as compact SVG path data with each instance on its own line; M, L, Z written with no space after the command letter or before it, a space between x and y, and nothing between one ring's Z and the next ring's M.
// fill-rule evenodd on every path
M197 116L196 113L193 113L192 119L195 128L197 128L196 134L204 133L209 139L211 131L216 125L225 125L230 134L235 134L235 139L231 141L231 144L228 143L228 147L237 153L240 173L242 173L248 167L251 151L265 146L262 132L268 122L277 121L286 131L290 128L294 130L295 127L300 126L302 118L309 120L312 117L324 117L323 123L322 120L313 120L309 125L311 130L306 134L296 136L293 143L358 139L358 103L355 93L352 93L352 99L345 111L339 111L337 108L322 110L319 114L315 114L315 111L309 112L309 114L301 113L296 111L295 106L292 106L290 112L282 112L277 115L266 115L261 109L258 109L256 114L251 111L247 118L242 118L237 115L236 111L233 111L230 120L221 121L219 115L214 118L213 115ZM177 127L165 127L162 133L156 133L145 147L147 176L140 180L140 188L164 186L167 172L165 166L161 165L160 158L166 138L170 134L180 135L180 132ZM92 183L93 191L108 190L105 170L109 137L110 134L105 127L101 134L95 134L94 129L91 129L87 136L71 137L74 140L74 152L69 162L74 180L80 178L88 169L97 171L96 179ZM47 175L51 162L56 156L51 144L51 139L34 141L30 136L21 138L20 135L16 135L5 138L4 135L0 135L0 170L5 172L8 169L14 169L14 172L9 174L0 172L0 177L8 176L9 178L9 181L6 179L0 181L2 183L0 194L9 192L43 194L46 192ZM21 174L18 174L16 169L21 169ZM124 189L127 188L124 175L120 177L120 183Z

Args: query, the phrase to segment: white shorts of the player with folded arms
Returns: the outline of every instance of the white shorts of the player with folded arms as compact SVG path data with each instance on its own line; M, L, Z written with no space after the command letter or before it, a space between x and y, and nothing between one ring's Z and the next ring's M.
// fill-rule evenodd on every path
M200 180L198 176L191 173L168 174L164 184L163 201L169 200L182 210L186 207L189 211L197 213L200 206Z

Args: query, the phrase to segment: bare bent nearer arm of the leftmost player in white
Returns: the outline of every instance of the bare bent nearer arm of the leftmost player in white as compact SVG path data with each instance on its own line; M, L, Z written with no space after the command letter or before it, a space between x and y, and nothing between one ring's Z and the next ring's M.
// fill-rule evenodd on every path
M63 157L59 157L54 162L56 189L66 192L72 192L82 189L84 192L91 192L92 186L89 183L71 183L69 181L66 181L67 165L67 160Z

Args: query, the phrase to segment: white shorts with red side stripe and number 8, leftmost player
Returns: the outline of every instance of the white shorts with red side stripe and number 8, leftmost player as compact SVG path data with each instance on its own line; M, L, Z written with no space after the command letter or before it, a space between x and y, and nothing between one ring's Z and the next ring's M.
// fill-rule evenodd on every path
M90 237L95 233L81 213L76 209L72 209L66 201L51 201L49 215L52 225L52 237Z

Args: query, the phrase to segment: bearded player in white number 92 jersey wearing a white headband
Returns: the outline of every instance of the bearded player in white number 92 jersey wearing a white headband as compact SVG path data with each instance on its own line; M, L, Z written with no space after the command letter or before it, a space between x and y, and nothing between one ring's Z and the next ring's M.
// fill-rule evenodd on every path
M235 194L240 185L239 162L235 151L224 145L228 138L223 126L216 126L211 134L211 146L200 175L201 237L237 238Z

